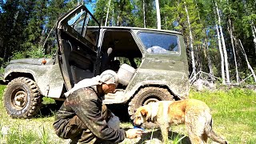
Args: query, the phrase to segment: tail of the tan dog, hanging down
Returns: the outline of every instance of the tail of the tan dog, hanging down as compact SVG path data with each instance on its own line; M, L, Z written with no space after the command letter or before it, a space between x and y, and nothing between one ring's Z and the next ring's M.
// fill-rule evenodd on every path
M218 143L222 143L222 144L227 144L226 140L221 138L220 136L218 136L218 134L216 134L213 130L213 119L210 117L209 121L206 122L206 127L205 127L205 133L207 134L207 136L212 139L215 142Z

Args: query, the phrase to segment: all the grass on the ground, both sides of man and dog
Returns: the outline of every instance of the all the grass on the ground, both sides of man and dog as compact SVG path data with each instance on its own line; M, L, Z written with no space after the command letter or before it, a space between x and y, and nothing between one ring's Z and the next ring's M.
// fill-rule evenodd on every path
M47 114L45 110L54 103L51 98L43 98L45 105L42 113L36 118L13 119L10 118L2 104L2 94L5 86L0 85L0 144L12 143L40 143L55 144L68 143L69 140L58 138L54 134L52 124L54 122L54 110ZM214 119L214 131L226 138L230 143L256 143L256 93L252 90L233 88L230 90L190 91L190 98L195 98L206 102L212 110ZM47 107L48 106L48 107ZM130 122L122 122L122 128L128 129L132 125ZM159 130L146 130L142 139L126 139L123 144L134 142L158 143L161 137ZM186 143L187 133L185 126L172 126L169 134L171 143Z

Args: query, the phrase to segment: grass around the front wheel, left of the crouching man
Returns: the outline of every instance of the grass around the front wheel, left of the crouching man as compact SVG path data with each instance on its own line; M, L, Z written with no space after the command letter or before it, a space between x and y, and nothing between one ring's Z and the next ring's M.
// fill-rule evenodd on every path
M43 98L46 105L36 118L14 119L6 114L2 104L2 95L6 86L0 85L0 144L58 144L69 140L58 138L54 133L54 111L49 105L54 103L51 98ZM49 112L46 112L47 110ZM7 134L6 134L7 133Z

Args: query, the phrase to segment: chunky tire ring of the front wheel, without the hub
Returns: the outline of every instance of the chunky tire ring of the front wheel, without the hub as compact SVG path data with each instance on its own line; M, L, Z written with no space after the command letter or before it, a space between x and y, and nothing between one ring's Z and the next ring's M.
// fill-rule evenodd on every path
M7 97L10 94L6 94L10 86L14 85L15 83L23 83L26 86L29 87L30 89L30 102L27 102L27 104L30 104L29 108L25 111L23 114L11 114L9 110L6 108L6 102L5 102L5 97ZM6 86L6 89L4 90L4 97L3 97L3 103L4 107L6 108L7 114L10 115L11 118L31 118L35 114L38 113L38 110L40 110L40 106L42 105L42 95L40 94L38 85L36 82L34 82L30 78L25 78L25 77L19 77L19 78L14 78L11 82L8 83Z

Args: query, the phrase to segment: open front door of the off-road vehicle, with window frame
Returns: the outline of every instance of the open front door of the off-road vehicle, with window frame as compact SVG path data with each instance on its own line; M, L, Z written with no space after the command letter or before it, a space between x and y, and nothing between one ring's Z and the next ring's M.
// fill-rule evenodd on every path
M88 26L97 26L90 30ZM58 62L66 90L95 74L100 25L86 6L70 10L57 23Z

